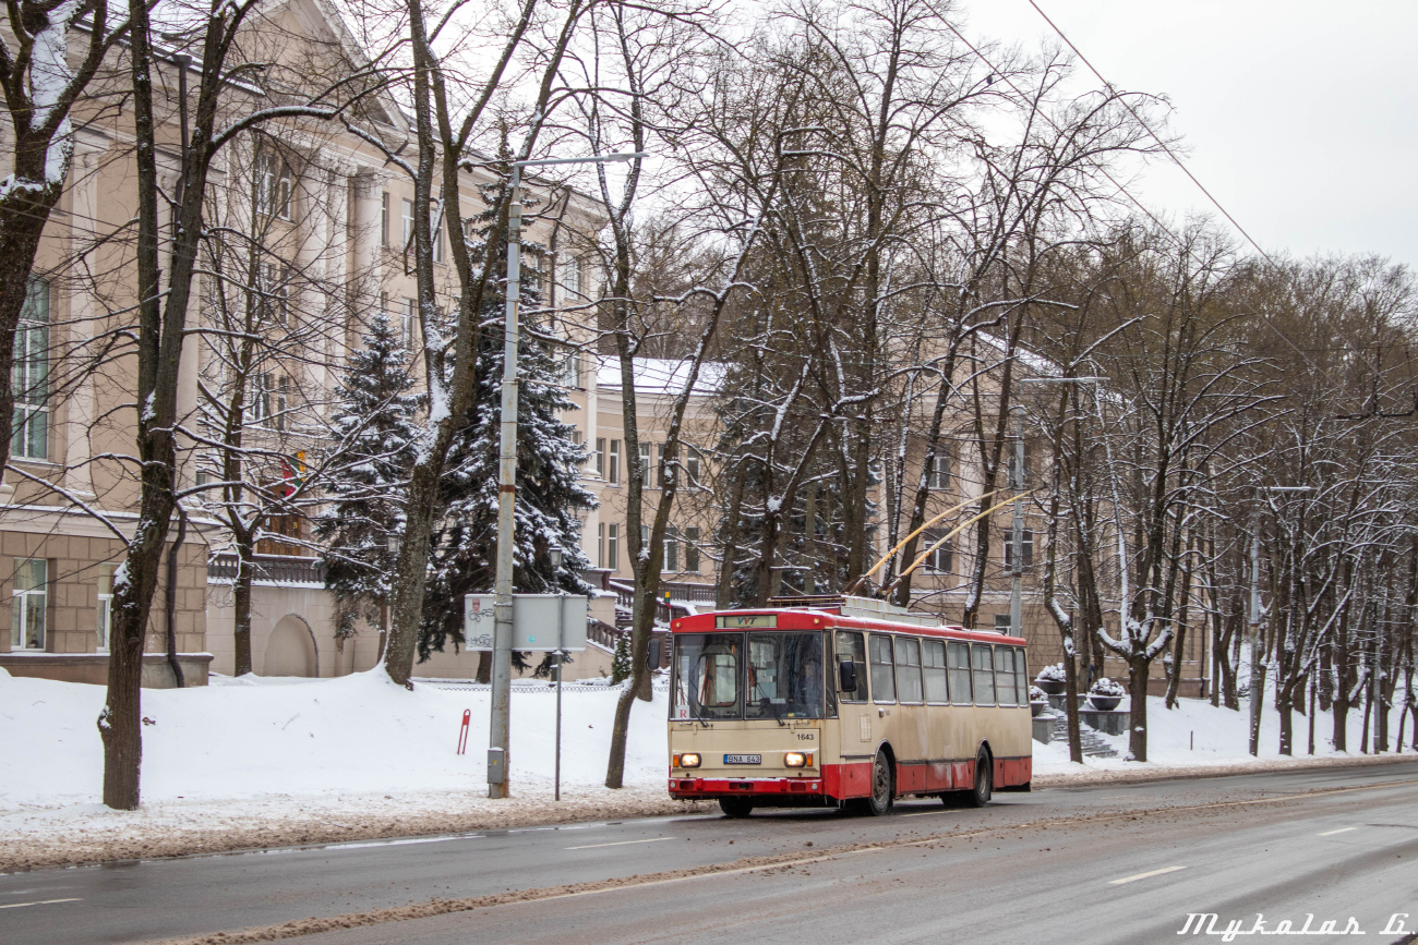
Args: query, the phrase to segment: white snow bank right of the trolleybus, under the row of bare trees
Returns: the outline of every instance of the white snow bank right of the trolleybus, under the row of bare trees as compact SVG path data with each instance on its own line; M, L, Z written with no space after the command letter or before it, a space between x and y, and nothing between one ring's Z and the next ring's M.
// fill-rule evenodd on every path
M1117 749L1117 758L1086 758L1083 765L1075 765L1068 759L1068 741L1055 740L1048 745L1034 742L1034 774L1035 775L1064 775L1076 774L1082 769L1095 771L1134 771L1150 769L1166 771L1173 768L1208 768L1236 765L1255 765L1258 762L1283 758L1280 755L1280 717L1272 703L1266 703L1261 713L1261 754L1252 758L1248 747L1251 740L1251 714L1246 700L1241 700L1241 711L1231 708L1214 708L1210 701L1200 698L1183 698L1177 701L1177 708L1168 710L1161 696L1147 697L1147 762L1139 764L1124 761L1127 757L1127 735L1107 735L1099 732L1099 738ZM1127 707L1126 700L1123 708ZM1350 749L1334 751L1330 737L1334 732L1334 723L1330 713L1316 713L1314 718L1314 755L1313 758L1354 758L1360 755L1360 732L1364 725L1364 714L1358 708L1349 713L1349 745ZM1306 754L1309 744L1309 717L1296 713L1293 715L1293 758L1303 761L1312 758ZM1398 711L1390 714L1388 747L1397 741ZM1409 732L1411 723L1409 723ZM1404 754L1411 754L1408 738L1404 740Z

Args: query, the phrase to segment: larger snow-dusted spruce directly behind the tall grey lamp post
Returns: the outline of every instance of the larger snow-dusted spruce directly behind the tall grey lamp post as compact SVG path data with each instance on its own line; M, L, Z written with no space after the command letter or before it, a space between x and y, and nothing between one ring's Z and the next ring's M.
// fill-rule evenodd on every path
M488 205L499 205L499 186L488 193ZM505 255L502 231L488 221L478 255ZM536 273L523 271L522 302L527 310L540 305ZM440 480L438 514L428 555L428 585L418 632L418 660L454 646L462 638L462 598L491 594L498 554L498 449L502 408L502 292L485 296L485 327L478 339L476 390L467 422L454 435ZM518 594L562 589L587 594L580 572L590 567L581 553L577 510L594 509L596 496L579 483L586 448L573 442L573 426L560 412L576 409L567 397L567 349L537 337L536 319L527 319L519 346L518 479L512 588ZM560 548L560 570L553 572L550 550ZM488 660L484 660L486 664ZM513 664L526 659L513 653ZM479 667L479 677L485 667Z

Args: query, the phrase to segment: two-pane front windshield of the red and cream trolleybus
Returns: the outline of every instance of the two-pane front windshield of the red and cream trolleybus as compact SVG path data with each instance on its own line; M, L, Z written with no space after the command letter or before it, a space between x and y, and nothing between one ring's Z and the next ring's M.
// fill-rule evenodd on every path
M671 717L822 718L822 633L679 633Z

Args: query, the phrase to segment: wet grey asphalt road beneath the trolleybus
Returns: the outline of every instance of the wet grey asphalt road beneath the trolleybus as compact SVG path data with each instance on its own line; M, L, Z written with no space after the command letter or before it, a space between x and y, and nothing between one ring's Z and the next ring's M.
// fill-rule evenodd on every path
M800 859L759 860L773 856ZM0 942L150 941L632 876L294 941L1133 945L1177 942L1210 912L1210 941L1244 939L1258 914L1268 932L1313 915L1307 942L1418 941L1418 762L1001 793L983 810L912 800L881 819L661 817L35 870L0 876Z

